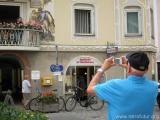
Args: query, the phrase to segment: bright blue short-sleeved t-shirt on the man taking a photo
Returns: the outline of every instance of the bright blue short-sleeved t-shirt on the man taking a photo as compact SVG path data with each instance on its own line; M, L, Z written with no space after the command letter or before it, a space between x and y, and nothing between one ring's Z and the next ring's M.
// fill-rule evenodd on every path
M98 84L94 90L108 103L108 120L152 120L158 93L156 82L128 76Z

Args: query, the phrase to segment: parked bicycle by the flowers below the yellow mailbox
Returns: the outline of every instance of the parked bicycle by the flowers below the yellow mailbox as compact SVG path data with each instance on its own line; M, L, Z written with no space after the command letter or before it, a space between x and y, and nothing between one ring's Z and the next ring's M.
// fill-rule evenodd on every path
M54 92L57 91L53 90ZM59 112L65 107L65 100L62 96L57 96L54 92L39 93L39 95L31 99L28 103L31 111L38 112Z

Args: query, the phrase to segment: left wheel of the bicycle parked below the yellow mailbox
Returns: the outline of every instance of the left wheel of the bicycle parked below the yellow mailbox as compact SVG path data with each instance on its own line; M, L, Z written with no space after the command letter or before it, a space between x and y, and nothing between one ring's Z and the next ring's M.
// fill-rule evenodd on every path
M37 98L33 98L30 100L30 102L28 103L29 105L29 109L32 111L38 111L39 108L39 102L37 100Z

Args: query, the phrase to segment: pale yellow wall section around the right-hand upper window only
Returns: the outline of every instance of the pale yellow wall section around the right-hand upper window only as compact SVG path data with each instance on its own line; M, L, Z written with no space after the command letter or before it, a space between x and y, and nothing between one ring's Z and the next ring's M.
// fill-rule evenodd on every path
M126 0L121 0L121 38L120 43L121 45L154 45L154 41L151 40L150 27L147 26L147 19L150 21L150 8L147 9L147 2L145 0L137 0L137 3L129 3ZM150 2L150 7L153 7L153 1ZM142 36L138 37L125 37L124 36L124 7L125 6L140 6L142 10ZM148 11L149 10L149 11ZM150 24L150 22L149 22Z

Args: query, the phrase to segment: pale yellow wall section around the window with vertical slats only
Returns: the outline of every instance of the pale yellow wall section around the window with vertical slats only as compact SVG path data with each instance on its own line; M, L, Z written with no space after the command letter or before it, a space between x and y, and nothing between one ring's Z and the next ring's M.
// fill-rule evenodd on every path
M96 35L75 37L72 33L73 0L55 0L56 42L65 45L105 45L107 41L114 41L114 1L83 0L83 2L91 3L95 7Z

